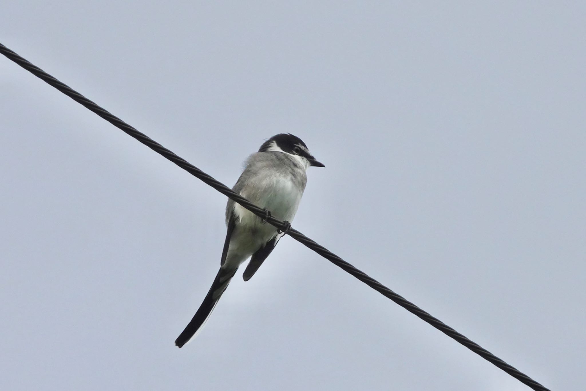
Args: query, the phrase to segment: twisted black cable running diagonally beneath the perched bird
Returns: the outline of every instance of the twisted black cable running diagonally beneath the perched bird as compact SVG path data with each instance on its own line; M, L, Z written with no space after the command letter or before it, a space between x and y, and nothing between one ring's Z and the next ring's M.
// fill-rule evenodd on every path
M71 89L71 87L67 86L66 84L62 83L61 81L55 79L50 74L46 73L39 67L31 64L27 60L23 59L21 56L17 55L12 50L8 49L8 47L2 45L0 43L0 52L8 57L8 59L12 60L13 62L19 64L24 69L28 70L30 73L34 74L35 76L39 77L46 81L46 83L50 84L51 86L55 87L57 90L61 91L62 93L69 96L71 99L75 100L77 103L80 103L84 107L88 108L89 110L93 111L100 117L104 118L104 120L108 121L109 123L113 124L115 127L119 128L126 134L134 137L138 141L142 142L142 144L147 145L147 147L151 148L153 151L158 152L158 154L163 155L166 159L169 159L176 165L180 166L181 168L188 171L190 174L195 176L196 178L201 179L203 182L207 183L207 185L212 186L214 189L222 193L223 195L227 196L228 198L233 199L240 205L244 206L244 208L250 210L255 215L259 217L267 217L267 213L264 209L258 208L258 206L254 205L246 198L241 196L238 193L231 191L223 183L216 181L216 179L212 178L212 176L207 175L205 172L201 171L196 166L190 164L183 158L178 157L173 152L169 151L169 149L163 147L158 142L152 140L147 135L142 134L135 128L131 127L120 118L116 117L115 115L109 113L108 111L104 110L100 106L98 106L93 101L89 100L88 98L84 97L77 91ZM268 216L267 222L271 225L277 227L280 230L287 229L288 225L284 224L280 220L275 219L272 216ZM542 386L540 383L536 382L529 376L525 375L524 373L520 372L515 367L507 364L506 362L502 361L497 356L493 355L486 349L482 348L482 346L476 344L475 342L471 341L470 339L466 338L464 335L460 334L459 332L455 331L453 328L449 327L448 325L444 324L444 322L440 321L440 319L432 317L428 312L421 310L421 308L417 307L417 305L413 304L412 302L408 301L403 296L394 293L389 288L384 286L383 284L379 283L379 281L374 280L374 278L368 276L363 271L358 270L356 267L352 266L351 264L347 263L345 260L337 256L336 254L332 253L328 249L323 246L320 246L318 243L315 243L313 240L306 237L304 234L299 232L296 229L290 228L288 230L288 234L293 237L298 242L301 242L309 249L314 250L316 253L324 257L325 259L331 261L336 266L342 268L342 270L346 271L347 273L352 274L352 276L358 278L364 284L368 285L369 287L373 288L379 293L383 294L384 296L390 298L394 302L396 302L401 307L405 308L407 311L411 312L412 314L417 315L417 317L423 319L425 322L428 322L433 327L437 328L444 334L450 336L451 338L458 341L460 344L466 346L466 348L470 349L471 351L475 352L479 356L481 356L486 361L492 362L494 365L498 366L498 368L504 370L509 375L513 376L520 382L526 384L527 386L531 387L534 390L539 391L550 391L546 387Z

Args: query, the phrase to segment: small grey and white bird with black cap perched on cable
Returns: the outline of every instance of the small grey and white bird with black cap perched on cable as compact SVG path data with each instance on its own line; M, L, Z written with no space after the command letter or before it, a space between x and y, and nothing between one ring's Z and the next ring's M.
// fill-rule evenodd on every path
M250 155L232 190L263 208L263 219L229 199L226 205L226 240L220 270L202 304L175 340L181 348L201 331L236 271L248 258L244 281L256 273L286 232L267 224L272 216L291 226L307 183L309 167L325 167L309 152L307 145L291 133L274 135Z

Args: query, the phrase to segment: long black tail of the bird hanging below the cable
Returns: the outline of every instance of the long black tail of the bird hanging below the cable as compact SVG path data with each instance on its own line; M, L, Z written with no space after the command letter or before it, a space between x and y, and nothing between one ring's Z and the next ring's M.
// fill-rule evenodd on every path
M216 307L218 300L220 300L220 297L228 287L230 280L234 277L234 274L236 274L236 270L237 269L224 270L223 268L220 268L206 298L203 299L202 304L197 309L195 315L193 315L193 318L185 330L183 330L177 339L175 339L176 346L181 348L203 327L207 318L212 314L214 307Z

